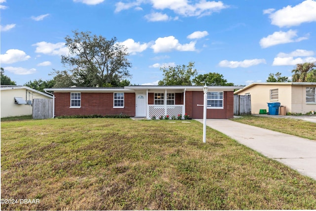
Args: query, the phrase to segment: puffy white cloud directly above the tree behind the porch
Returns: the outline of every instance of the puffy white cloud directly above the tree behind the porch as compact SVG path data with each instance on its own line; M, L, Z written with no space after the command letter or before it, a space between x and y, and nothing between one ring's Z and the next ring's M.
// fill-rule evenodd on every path
M180 44L177 39L173 36L158 38L155 44L151 46L155 53L158 52L169 52L172 50L178 51L195 51L196 42L190 42L187 44Z

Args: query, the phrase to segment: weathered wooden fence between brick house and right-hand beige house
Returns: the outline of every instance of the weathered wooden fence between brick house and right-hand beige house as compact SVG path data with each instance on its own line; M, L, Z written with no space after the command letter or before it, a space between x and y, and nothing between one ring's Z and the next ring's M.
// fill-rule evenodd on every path
M250 95L234 95L234 115L251 115Z

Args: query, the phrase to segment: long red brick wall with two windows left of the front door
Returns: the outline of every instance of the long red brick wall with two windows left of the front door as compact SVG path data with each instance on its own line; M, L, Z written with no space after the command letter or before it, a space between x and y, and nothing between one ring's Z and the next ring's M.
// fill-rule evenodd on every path
M135 116L135 93L124 93L124 108L113 108L113 93L81 92L81 108L70 108L70 92L55 93L55 116L63 115Z

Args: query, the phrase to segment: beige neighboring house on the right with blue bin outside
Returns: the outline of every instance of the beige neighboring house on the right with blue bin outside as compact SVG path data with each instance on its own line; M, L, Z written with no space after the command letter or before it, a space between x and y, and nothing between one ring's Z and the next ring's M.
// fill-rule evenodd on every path
M234 94L251 95L251 113L269 111L267 103L279 102L286 113L306 114L316 111L316 83L253 83Z

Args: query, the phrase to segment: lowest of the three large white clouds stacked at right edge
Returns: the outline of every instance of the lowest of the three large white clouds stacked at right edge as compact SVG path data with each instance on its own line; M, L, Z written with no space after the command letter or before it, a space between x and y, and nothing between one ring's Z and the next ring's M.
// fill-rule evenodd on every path
M280 52L273 60L273 66L286 66L286 65L296 65L305 62L315 62L316 57L312 57L314 55L314 51L312 50L302 50L297 49L290 53Z

